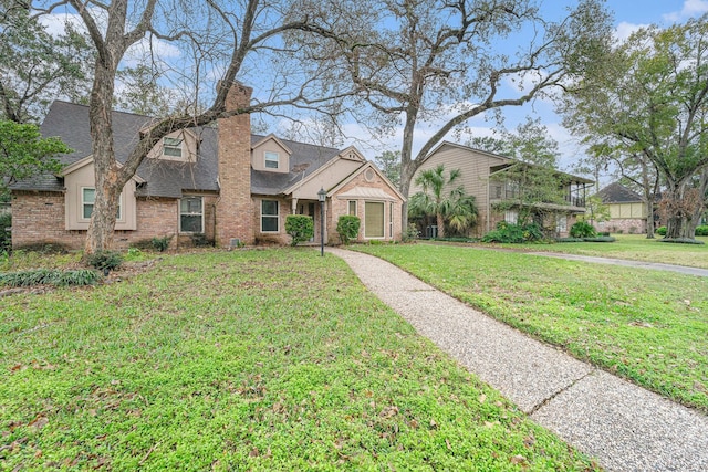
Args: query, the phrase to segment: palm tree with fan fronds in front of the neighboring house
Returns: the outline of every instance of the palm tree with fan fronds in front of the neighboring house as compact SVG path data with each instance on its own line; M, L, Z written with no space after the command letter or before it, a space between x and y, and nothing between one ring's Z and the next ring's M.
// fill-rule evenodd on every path
M461 232L470 228L477 219L475 197L467 195L461 185L455 187L460 176L460 169L452 169L446 178L445 166L440 164L434 169L421 171L415 179L415 185L420 187L421 191L410 197L409 213L412 217L435 214L439 238L445 238L446 221ZM447 189L450 189L448 193Z

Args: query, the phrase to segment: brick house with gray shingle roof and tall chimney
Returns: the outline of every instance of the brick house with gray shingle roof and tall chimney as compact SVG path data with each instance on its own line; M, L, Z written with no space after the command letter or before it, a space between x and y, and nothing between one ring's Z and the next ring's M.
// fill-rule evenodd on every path
M235 84L227 108L248 104L251 92ZM115 155L123 162L153 119L121 112L112 118ZM74 153L60 156L65 166L60 174L12 185L12 245L80 249L95 198L88 108L55 102L41 132L60 137ZM173 237L173 247L197 239L219 247L287 244L285 217L306 214L314 219L319 243L321 189L325 242L339 242L342 214L361 218L361 241L400 239L405 199L356 148L252 135L244 114L166 136L121 195L114 241L122 248L164 237Z

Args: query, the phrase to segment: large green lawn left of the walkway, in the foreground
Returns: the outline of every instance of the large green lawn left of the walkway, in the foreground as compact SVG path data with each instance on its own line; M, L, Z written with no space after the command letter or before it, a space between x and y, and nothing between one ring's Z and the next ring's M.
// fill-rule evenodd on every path
M1 470L595 469L316 251L1 303Z

